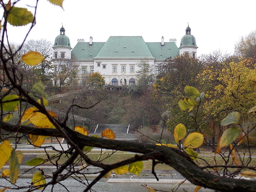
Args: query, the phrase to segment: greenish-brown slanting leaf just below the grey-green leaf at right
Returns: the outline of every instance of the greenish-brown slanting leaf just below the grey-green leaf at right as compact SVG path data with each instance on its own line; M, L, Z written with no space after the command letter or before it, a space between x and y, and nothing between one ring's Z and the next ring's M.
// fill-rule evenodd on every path
M223 147L227 147L229 144L231 144L240 134L241 129L240 128L228 128L224 131L222 134L222 137L220 141L218 142L218 146L216 151L221 150Z

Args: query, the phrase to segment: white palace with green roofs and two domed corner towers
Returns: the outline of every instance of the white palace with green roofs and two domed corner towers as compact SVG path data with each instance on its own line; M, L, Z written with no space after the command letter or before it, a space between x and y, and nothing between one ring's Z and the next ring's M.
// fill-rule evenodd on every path
M179 48L176 39L164 42L161 37L160 42L145 42L142 36L110 36L106 42L94 42L93 37L90 37L89 42L78 39L72 49L63 26L53 46L55 62L71 60L78 65L80 75L99 72L107 85L136 84L136 71L139 70L137 63L141 60L147 59L157 74L158 64L166 58L175 58L184 53L196 57L197 48L189 26Z

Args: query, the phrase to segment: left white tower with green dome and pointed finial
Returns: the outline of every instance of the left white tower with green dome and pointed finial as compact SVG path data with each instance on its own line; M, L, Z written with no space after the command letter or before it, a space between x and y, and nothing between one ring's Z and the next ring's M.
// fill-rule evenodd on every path
M71 49L69 38L65 35L65 29L62 25L60 34L55 38L53 46L55 59L71 59Z

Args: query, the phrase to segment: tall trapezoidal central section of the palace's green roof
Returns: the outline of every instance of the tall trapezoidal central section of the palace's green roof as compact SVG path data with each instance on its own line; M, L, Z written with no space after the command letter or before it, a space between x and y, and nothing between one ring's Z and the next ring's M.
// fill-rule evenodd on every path
M154 58L142 36L110 36L95 59Z

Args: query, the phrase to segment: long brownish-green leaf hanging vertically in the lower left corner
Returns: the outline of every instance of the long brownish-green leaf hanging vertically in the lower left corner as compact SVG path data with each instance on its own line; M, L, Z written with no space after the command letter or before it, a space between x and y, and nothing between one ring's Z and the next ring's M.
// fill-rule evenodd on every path
M9 158L11 184L16 183L18 179L22 158L23 153L21 151L12 150L11 156Z

